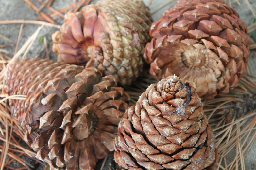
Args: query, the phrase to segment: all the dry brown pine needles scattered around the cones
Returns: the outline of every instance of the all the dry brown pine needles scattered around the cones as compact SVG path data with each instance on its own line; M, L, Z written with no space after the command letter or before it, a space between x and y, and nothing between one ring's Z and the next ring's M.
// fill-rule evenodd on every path
M38 18L39 21L26 21L26 20L9 20L9 21L0 21L0 24L21 24L20 33L17 37L17 42L15 46L15 52L13 57L10 58L7 56L9 51L2 49L6 46L0 47L0 170L2 169L14 169L9 166L9 163L13 161L17 161L23 167L22 169L33 169L33 165L27 164L25 160L22 159L22 156L31 158L36 160L36 152L32 149L26 149L27 146L21 145L21 142L24 141L24 133L23 129L18 123L18 120L15 117L12 117L10 114L10 107L8 105L7 100L25 100L26 96L23 95L15 95L15 96L7 96L4 93L4 84L5 77L4 72L6 69L6 65L18 58L23 54L23 57L26 57L27 52L32 46L34 40L36 39L38 33L43 28L43 26L50 26L60 28L60 25L56 25L55 20L63 17L64 12L66 11L78 11L80 7L86 5L90 2L90 0L80 0L75 2L67 7L63 7L59 10L51 7L51 4L54 0L47 0L44 2L39 1L42 5L36 6L29 0L24 0L28 3L32 8L34 8L37 12L41 14L41 17ZM150 1L150 5L154 0ZM162 7L166 6L172 0L167 1L166 4L159 6L153 13L160 10ZM228 1L231 5L237 3L240 5L239 0ZM248 9L252 11L252 14L255 15L255 10L251 7L250 2L246 0L248 5ZM51 13L43 13L42 9L48 8L51 10ZM48 21L48 22L45 22ZM50 22L50 23L49 23ZM26 43L18 50L18 44L20 41L20 36L22 33L22 28L24 24L39 24L41 25L38 30L31 35L31 37L26 41ZM256 24L252 23L251 26L248 27L249 32L254 32L256 29ZM12 43L7 37L4 35L0 35L0 38L3 38L6 42ZM254 41L252 41L255 43ZM44 39L44 47L46 51L46 57L49 56L49 51L51 48L48 48L48 43ZM252 44L251 49L255 49L256 45ZM2 52L2 53L1 53ZM255 77L250 76L252 74L251 66L248 65L248 75L241 79L239 83L239 87L230 91L229 94L226 95L218 95L216 99L210 101L203 101L205 106L205 114L208 116L208 120L210 125L213 128L213 132L216 136L217 147L220 151L220 160L217 165L217 169L242 169L245 170L245 157L252 147L252 144L256 137L256 112L255 110L250 110L240 117L235 117L229 121L227 121L227 113L223 112L223 110L227 110L230 106L232 107L236 102L240 101L240 98L251 94L255 95L256 91L256 82ZM140 78L138 78L136 83L133 86L125 87L126 91L130 94L131 102L130 104L135 104L138 100L139 96L142 92L146 90L146 88L152 84L157 83L152 76L146 72ZM231 151L235 150L235 155L230 155ZM227 157L232 157L233 161L227 162ZM50 163L49 159L44 160L46 163ZM43 163L42 161L36 160L36 163ZM104 165L104 163L103 163ZM103 168L103 165L101 169ZM46 167L48 168L48 167ZM45 168L45 169L46 169Z

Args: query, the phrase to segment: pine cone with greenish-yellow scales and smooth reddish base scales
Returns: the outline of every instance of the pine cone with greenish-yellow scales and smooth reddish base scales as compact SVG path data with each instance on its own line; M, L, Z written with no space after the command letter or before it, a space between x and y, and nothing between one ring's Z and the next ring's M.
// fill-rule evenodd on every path
M94 66L129 85L142 72L150 24L141 0L99 1L65 14L65 23L52 35L53 51L58 61Z

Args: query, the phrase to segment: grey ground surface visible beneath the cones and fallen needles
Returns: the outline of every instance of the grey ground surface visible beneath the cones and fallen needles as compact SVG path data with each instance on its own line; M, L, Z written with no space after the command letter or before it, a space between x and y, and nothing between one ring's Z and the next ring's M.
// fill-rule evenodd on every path
M96 3L99 0L94 0L93 3ZM145 4L149 4L150 0L144 0ZM151 6L151 12L153 12L155 9L157 9L159 6L164 4L168 0L154 0L153 4ZM38 7L40 4L36 0L32 0L32 2L37 5ZM72 4L73 0L54 0L54 3L52 4L52 7L55 9L60 9L62 7L65 7L69 4ZM251 25L253 22L254 16L252 15L252 12L248 9L248 6L244 0L240 0L241 6L239 6L237 3L233 3L232 7L234 7L238 13L240 14L240 18L244 20L247 25ZM152 15L153 20L158 20L162 13L167 10L174 2L169 3L165 7L163 7L158 12L154 13ZM254 9L256 9L256 0L251 0L251 5ZM49 13L47 9L43 9L43 12ZM14 19L24 19L24 20L37 20L37 18L40 15L37 14L31 7L27 5L23 0L0 0L0 21L1 20L14 20ZM63 23L63 19L60 18L56 20L56 24L61 25ZM14 43L14 47L7 47L4 48L8 50L10 53L7 54L10 57L13 56L15 45L17 42L17 38L19 35L21 24L6 24L6 25L0 25L0 34L8 37L12 42ZM34 24L24 24L23 32L21 35L20 43L18 49L22 47L22 45L28 40L28 38L37 30L39 25ZM54 33L57 29L52 27L44 26L43 29L40 31L38 38L35 40L35 43L31 47L29 53L26 55L26 57L36 57L44 49L44 45L41 42L40 38L46 37L47 42L51 40L51 34ZM0 45L1 44L10 44L9 42L3 40L0 38ZM250 60L250 64L253 68L253 73L256 75L256 58L255 58L255 52L251 51L252 59ZM41 56L44 56L45 52L41 54ZM56 60L56 55L51 52L50 58L53 60ZM235 153L235 152L234 152ZM245 159L245 165L246 169L253 170L256 169L255 167L255 155L256 155L256 142L254 142L254 145L250 152L248 153L246 159ZM28 160L29 162L30 160ZM227 162L229 160L227 159ZM111 167L111 164L113 164L113 157L110 156L107 160L106 167L104 169L109 170L109 167ZM102 161L98 163L98 166L95 169L100 169L100 166L102 164ZM39 166L36 169L44 169L43 166Z

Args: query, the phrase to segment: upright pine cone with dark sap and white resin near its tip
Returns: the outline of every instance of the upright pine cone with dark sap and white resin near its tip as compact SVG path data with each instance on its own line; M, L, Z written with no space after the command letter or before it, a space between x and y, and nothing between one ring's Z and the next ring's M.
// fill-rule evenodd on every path
M151 84L125 112L115 161L127 170L201 170L218 159L196 85L169 76Z

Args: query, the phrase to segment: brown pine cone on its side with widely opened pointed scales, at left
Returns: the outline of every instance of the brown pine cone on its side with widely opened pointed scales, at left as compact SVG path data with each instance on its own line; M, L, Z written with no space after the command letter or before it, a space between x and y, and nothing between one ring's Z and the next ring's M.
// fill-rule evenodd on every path
M36 158L48 156L52 169L94 169L98 159L114 150L117 125L129 100L112 75L39 59L10 63L6 92L26 95L26 100L9 100L11 113L37 151Z

